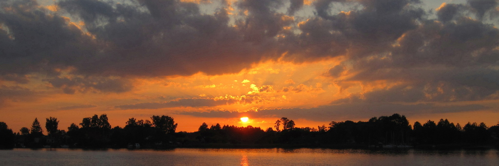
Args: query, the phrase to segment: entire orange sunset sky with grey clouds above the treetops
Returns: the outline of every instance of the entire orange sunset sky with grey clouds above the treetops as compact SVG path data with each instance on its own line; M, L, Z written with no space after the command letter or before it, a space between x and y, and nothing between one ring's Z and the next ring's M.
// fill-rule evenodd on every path
M0 0L0 121L499 121L497 0ZM250 121L240 122L241 117Z

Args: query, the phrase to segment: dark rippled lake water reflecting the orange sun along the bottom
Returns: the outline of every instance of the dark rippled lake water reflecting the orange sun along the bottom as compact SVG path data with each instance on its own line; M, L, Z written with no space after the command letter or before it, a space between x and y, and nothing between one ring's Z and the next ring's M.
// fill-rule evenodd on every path
M0 150L1 166L499 166L498 150Z

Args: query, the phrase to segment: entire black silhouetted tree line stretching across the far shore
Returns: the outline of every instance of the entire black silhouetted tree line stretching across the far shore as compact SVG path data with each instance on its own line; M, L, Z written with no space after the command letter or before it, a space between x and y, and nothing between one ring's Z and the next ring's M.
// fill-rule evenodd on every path
M366 148L387 145L428 147L496 147L499 148L499 124L454 124L447 119L438 122L415 122L410 125L404 115L373 117L367 122L343 121L317 128L295 127L293 120L277 119L273 128L238 127L203 123L198 131L175 132L177 124L169 116L152 116L150 120L130 118L126 126L111 128L106 114L83 118L65 130L58 129L57 118L46 118L45 130L37 118L31 128L12 132L0 122L0 148L141 148L175 147L331 147Z

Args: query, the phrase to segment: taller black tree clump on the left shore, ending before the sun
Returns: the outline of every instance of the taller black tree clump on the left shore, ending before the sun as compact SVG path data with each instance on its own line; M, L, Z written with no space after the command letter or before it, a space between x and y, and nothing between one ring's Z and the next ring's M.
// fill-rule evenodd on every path
M83 118L66 130L59 130L57 118L46 118L45 130L37 118L31 128L12 132L0 122L0 149L11 148L126 148L130 143L160 144L174 140L177 124L169 116L152 116L151 120L130 118L126 126L111 128L106 114ZM147 146L146 146L147 147Z

